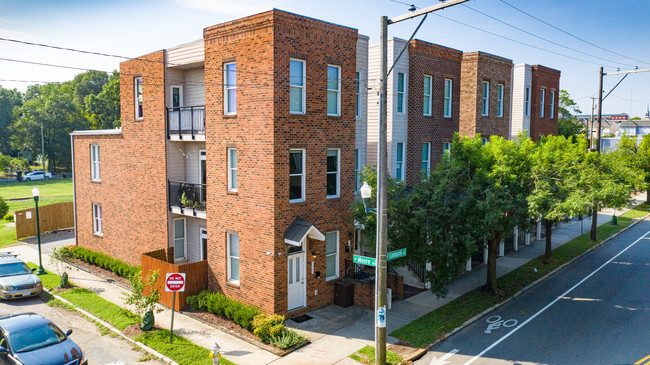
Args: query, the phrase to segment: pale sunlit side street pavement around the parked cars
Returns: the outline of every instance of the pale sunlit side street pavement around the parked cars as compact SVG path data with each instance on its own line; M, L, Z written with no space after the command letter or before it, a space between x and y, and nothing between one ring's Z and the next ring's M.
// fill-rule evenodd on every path
M102 336L98 328L76 313L63 308L50 307L38 297L0 301L0 315L33 312L59 326L63 331L71 329L70 338L86 353L92 365L162 365L160 360L138 362L146 352L133 350L130 342L121 337Z

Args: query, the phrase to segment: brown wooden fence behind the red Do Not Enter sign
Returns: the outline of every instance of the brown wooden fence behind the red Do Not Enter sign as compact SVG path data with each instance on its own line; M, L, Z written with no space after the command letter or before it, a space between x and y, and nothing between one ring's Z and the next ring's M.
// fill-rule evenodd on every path
M173 255L172 255L173 256ZM165 277L167 273L185 273L185 291L176 293L175 310L183 310L187 306L187 297L196 295L208 288L208 262L206 260L193 262L191 264L176 265L167 262L168 255L165 249L160 249L142 254L142 275L143 280L149 272L160 270L160 278L156 282L156 288L160 290L160 304L167 308L172 307L172 292L165 291ZM145 287L144 295L149 295Z

